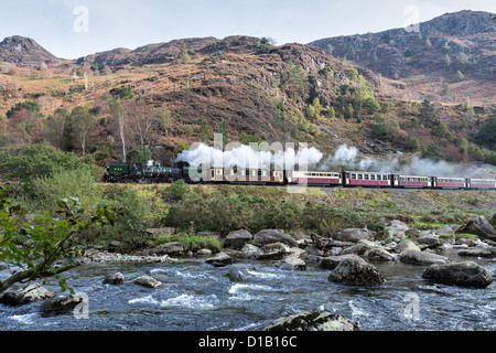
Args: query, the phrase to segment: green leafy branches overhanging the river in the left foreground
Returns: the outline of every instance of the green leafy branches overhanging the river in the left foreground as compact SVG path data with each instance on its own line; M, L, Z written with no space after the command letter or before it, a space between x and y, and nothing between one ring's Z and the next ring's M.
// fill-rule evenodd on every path
M84 221L84 206L77 199L69 197L58 202L61 211L56 218L45 213L36 217L33 224L21 223L18 221L19 215L25 211L12 205L8 199L8 189L9 185L0 186L0 263L18 267L19 270L0 281L0 293L18 282L29 284L53 276L58 280L62 291L69 289L74 293L67 288L66 280L60 277L79 266L75 258L80 252L74 245L74 236L91 226L112 224L115 213L108 207L101 207ZM25 234L25 246L18 247L14 239L22 233Z

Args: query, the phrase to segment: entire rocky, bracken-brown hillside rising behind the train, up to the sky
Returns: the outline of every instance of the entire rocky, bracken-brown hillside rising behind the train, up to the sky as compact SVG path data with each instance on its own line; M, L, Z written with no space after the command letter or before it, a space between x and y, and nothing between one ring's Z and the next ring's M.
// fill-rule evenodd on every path
M451 14L442 18L445 21L433 23L455 21ZM425 84L419 78L438 75L436 69L427 75L425 67L436 67L429 60L439 53L425 55L422 51L428 50L417 46L408 60L399 55L413 43L413 34L405 30L389 31L395 39L388 43L379 40L384 33L320 41L319 46L334 43L333 55L315 42L277 46L267 39L234 35L115 49L76 61L56 58L33 40L9 38L0 44L0 118L10 116L0 120L0 146L48 140L62 149L89 152L101 164L145 150L170 164L182 148L212 142L214 132L222 132L226 141L302 141L330 153L347 143L374 157L421 153L435 145L439 158L496 161L496 152L483 150L493 147L477 140L494 115L494 79L489 79L494 43L488 43L494 41L494 26L471 23L464 39L478 43L477 47L485 43L488 50L483 53L455 40L460 28L438 25L443 32L430 36L429 50L440 51L442 35L450 35L453 53L463 49L474 62L472 69L464 69L463 82L451 84L451 100L438 99L439 82ZM421 33L433 32L432 25L421 25ZM419 41L418 33L416 38ZM351 40L357 56L343 61L346 44L338 43ZM366 65L373 44L378 67ZM396 54L384 60L381 51ZM398 67L398 75L391 67ZM452 74L441 72L446 77ZM478 90L456 94L464 85ZM432 114L427 115L424 98L432 101L427 107ZM36 103L40 110L17 111L20 116L12 119L12 107L25 101ZM91 118L82 142L83 127L71 121L83 119L76 108L84 106ZM466 139L463 147L461 138Z

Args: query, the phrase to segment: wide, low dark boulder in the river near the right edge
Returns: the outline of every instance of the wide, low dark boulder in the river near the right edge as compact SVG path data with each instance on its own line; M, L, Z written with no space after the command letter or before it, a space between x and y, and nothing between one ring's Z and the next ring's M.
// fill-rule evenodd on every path
M473 288L486 288L493 282L493 276L484 267L472 261L431 265L422 277L445 285Z

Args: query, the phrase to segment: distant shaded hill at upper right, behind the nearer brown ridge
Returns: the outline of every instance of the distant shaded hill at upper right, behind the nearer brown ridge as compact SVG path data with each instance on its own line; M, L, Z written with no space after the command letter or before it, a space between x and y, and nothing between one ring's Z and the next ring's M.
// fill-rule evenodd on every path
M494 14L461 11L419 23L418 31L393 29L310 45L396 81L396 96L485 105L495 99L495 40Z

